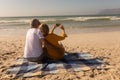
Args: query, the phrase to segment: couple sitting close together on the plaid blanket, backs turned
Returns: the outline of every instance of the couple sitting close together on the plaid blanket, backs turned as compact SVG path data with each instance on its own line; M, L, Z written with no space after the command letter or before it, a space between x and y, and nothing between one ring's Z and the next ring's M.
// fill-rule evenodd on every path
M64 58L64 47L58 41L67 37L62 24L55 24L49 31L47 24L41 24L38 19L31 21L31 28L27 31L24 58L32 62L46 60L61 60ZM55 28L62 30L62 35L54 33Z

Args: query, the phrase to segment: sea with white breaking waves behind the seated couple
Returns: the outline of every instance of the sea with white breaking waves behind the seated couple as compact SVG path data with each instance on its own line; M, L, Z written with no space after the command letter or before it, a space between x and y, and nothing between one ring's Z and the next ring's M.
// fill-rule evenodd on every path
M0 35L24 35L34 18L50 28L56 23L63 24L68 34L120 30L120 15L21 16L0 17Z

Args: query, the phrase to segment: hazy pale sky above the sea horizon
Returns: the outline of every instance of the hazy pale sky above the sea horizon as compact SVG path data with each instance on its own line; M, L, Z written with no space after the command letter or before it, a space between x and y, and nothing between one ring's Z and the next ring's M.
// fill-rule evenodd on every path
M0 0L0 16L97 14L120 8L120 0Z

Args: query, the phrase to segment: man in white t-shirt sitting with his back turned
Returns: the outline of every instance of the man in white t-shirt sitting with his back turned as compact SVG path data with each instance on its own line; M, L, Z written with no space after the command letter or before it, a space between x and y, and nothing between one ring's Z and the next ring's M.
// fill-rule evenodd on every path
M37 19L31 22L31 28L27 31L26 43L24 49L24 58L29 61L40 61L43 58L42 33L37 29L41 23Z

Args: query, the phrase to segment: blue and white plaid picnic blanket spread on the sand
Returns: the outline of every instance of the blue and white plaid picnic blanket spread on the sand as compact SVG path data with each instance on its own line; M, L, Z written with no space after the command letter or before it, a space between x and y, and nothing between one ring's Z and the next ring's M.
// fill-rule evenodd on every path
M65 54L64 61L51 61L45 63L29 62L24 58L19 58L15 64L10 66L7 75L18 77L32 77L36 75L56 74L65 72L86 71L102 68L104 62L93 58L90 53Z

